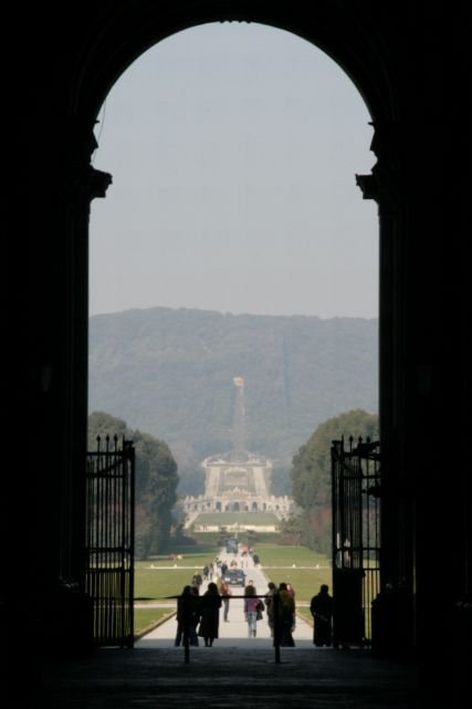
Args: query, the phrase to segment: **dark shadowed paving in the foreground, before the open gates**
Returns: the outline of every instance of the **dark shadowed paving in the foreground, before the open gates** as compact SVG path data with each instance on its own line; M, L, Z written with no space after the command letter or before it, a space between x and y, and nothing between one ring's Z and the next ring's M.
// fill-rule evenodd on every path
M409 664L369 650L196 648L98 649L83 659L43 658L38 709L413 709Z

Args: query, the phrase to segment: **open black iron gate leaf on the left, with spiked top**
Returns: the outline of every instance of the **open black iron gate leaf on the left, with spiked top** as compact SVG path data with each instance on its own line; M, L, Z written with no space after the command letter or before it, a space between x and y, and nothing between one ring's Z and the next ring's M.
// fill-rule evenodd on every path
M132 441L107 436L87 453L85 588L93 601L94 644L133 647L134 488Z

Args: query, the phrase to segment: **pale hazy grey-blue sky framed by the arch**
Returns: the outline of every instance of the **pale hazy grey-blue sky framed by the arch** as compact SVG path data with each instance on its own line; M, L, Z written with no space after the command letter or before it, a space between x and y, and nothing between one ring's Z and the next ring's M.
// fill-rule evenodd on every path
M378 315L370 116L326 54L260 24L149 50L99 114L91 314L130 307Z

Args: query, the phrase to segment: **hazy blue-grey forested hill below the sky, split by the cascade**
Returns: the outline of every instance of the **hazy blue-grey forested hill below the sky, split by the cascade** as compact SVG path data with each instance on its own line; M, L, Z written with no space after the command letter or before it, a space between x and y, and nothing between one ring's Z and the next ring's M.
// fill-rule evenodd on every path
M180 473L231 448L235 376L248 448L279 463L326 418L377 413L377 320L154 307L90 324L90 411L164 439Z

